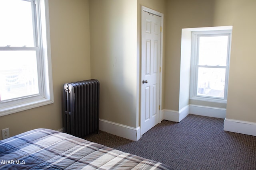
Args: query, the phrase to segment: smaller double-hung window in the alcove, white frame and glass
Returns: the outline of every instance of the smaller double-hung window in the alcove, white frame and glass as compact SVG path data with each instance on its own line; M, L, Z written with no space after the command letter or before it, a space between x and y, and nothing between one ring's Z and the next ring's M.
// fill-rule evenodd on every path
M192 31L190 99L226 102L231 34Z

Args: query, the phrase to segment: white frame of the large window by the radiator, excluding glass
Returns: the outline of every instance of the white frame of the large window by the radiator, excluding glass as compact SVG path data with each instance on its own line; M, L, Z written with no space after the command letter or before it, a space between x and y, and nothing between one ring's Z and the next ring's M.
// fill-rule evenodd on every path
M37 34L35 44L38 47L8 47L8 50L33 50L36 51L38 61L39 95L19 98L0 103L0 116L32 109L54 103L52 85L52 63L50 49L50 23L48 0L34 0L36 4ZM6 47L0 47L6 50Z

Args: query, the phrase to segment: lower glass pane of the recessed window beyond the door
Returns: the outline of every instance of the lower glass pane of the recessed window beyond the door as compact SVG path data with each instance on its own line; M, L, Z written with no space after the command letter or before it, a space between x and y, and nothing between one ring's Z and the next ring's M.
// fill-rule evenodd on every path
M226 68L198 68L197 95L224 98Z

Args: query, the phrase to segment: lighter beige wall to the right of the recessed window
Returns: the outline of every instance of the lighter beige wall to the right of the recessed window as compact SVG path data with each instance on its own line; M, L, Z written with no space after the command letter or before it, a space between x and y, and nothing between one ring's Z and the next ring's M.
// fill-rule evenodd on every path
M216 1L218 13L214 23L233 25L226 113L228 119L256 122L255 7L255 0Z

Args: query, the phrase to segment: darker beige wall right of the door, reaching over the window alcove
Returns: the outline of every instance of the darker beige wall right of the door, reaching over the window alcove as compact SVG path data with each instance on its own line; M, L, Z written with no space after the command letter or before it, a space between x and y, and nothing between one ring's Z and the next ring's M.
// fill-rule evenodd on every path
M179 109L182 28L209 27L213 0L168 0L166 4L166 59L164 109Z

